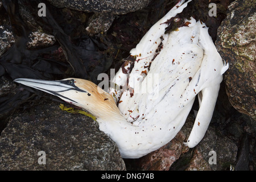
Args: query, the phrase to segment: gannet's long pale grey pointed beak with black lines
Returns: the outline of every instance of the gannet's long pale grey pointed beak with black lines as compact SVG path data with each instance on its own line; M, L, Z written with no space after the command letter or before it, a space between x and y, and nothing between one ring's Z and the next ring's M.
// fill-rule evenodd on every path
M85 90L81 90L73 83L74 80L55 80L55 81L48 81L48 80L37 80L31 78L17 78L14 80L19 84L23 84L26 86L30 86L32 88L42 90L43 92L47 92L54 96L60 97L62 100L71 102L76 104L77 102L72 100L71 98L65 97L67 96L68 91L76 90L79 92L85 92ZM72 82L73 81L73 82Z

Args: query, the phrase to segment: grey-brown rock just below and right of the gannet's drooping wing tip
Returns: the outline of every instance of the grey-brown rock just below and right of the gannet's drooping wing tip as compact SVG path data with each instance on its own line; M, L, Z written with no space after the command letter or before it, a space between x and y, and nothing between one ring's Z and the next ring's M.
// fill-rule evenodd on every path
M236 144L216 130L218 129L209 126L203 140L192 149L192 159L187 171L227 170L236 163Z

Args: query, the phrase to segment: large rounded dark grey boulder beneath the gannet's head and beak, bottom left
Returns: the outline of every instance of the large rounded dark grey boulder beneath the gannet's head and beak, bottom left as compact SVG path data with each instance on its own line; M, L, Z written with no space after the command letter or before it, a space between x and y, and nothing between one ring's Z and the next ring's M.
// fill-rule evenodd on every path
M13 115L0 143L0 170L126 169L117 146L93 119L62 111L57 103ZM46 164L38 163L44 161L40 151Z

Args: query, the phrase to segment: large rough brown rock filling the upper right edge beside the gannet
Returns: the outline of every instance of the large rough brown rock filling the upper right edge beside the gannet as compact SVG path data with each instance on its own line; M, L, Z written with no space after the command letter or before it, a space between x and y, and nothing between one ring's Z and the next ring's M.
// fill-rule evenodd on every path
M255 1L237 0L230 4L218 28L216 47L229 63L224 74L230 103L241 113L256 119Z

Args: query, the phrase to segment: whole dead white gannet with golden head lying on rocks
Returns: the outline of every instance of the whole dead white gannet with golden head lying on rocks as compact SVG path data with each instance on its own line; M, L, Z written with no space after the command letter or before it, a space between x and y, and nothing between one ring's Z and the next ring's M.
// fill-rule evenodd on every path
M140 158L170 142L184 125L198 94L200 109L185 143L195 147L207 131L228 65L222 62L208 28L192 17L178 31L164 34L165 22L181 13L188 2L177 3L131 50L131 55L137 56L134 68L130 73L121 68L112 79L119 88L129 80L122 92L114 87L107 93L79 78L14 81L92 113L100 130L117 143L123 158ZM153 77L155 81L150 81ZM145 87L150 88L142 92Z

